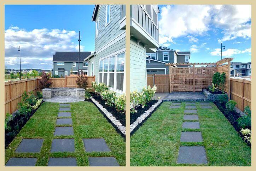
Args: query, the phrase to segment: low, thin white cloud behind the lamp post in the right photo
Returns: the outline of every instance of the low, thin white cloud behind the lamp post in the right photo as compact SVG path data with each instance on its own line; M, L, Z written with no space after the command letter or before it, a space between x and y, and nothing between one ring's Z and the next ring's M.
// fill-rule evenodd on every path
M227 49L226 51L222 52L222 56L223 57L232 57L233 55L242 54L242 53L251 53L251 48L247 48L243 51L241 51L239 49ZM221 49L220 48L214 49L214 51L210 52L210 54L212 56L220 56L221 55Z

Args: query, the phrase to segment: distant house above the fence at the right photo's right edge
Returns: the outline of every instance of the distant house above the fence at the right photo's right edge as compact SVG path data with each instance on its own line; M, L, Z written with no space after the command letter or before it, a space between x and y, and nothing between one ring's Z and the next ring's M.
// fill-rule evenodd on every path
M242 63L242 62L231 62L231 76L250 76L251 75L251 62Z

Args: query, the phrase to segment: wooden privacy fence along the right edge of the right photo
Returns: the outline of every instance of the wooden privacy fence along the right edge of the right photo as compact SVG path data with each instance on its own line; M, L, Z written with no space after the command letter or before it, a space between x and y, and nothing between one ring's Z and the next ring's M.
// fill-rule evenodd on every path
M245 106L251 108L251 81L245 79L230 79L231 100L237 102L237 108L244 111Z

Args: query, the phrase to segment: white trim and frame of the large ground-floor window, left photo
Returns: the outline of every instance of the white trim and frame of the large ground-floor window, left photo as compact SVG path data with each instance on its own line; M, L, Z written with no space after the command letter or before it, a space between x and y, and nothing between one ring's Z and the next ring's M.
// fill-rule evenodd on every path
M103 57L103 58L100 58L100 59L99 59L99 63L100 63L100 61L101 61L101 60L104 60L105 58L110 58L110 57L112 57L112 56L115 56L114 88L109 87L109 89L112 90L112 91L114 91L114 92L116 92L116 93L119 93L119 94L125 93L125 90L126 90L126 74L125 74L125 73L126 73L126 67L125 67L125 65L124 65L124 71L123 71L123 72L117 72L117 71L116 71L116 69L117 69L117 55L118 55L118 54L121 54L121 53L124 53L124 59L125 59L125 55L126 55L125 48L120 49L119 51L116 51L116 52L114 52L114 53L112 53L112 54L107 55L106 57ZM103 66L102 66L102 67L103 67L102 69L104 70L104 62L103 62L102 65L103 65ZM99 69L100 69L100 67L99 67ZM102 70L102 71L103 71L103 70ZM102 73L102 82L103 82L103 80L104 80L104 72L99 72L99 73L98 73L98 82L99 82L99 80L100 80L100 77L99 77L100 73ZM105 73L106 73L106 72L105 72ZM111 72L111 73L113 73L113 72ZM123 78L123 90L118 90L118 89L116 89L117 73L124 73L124 78ZM108 85L109 85L109 59L108 59L108 66L107 66L107 86L108 86Z

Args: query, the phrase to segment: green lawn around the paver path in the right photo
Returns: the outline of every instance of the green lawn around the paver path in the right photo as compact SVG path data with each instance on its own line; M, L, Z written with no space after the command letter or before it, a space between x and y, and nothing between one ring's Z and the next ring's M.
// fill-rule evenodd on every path
M202 109L196 103L200 129L182 129L185 102L169 109L163 102L130 138L131 166L193 166L176 164L180 146L204 146L207 166L250 166L251 148L212 103ZM203 142L180 142L181 131L201 131ZM204 166L204 165L202 165Z

